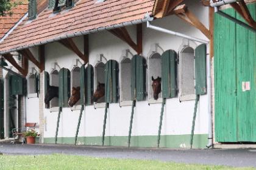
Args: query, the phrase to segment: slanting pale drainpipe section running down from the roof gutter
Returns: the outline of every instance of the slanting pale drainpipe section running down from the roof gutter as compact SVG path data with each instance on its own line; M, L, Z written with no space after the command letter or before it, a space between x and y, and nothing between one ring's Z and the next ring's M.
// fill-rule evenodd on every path
M174 36L179 36L179 37L182 37L182 38L190 39L192 41L197 41L197 42L201 42L201 43L204 43L204 44L208 44L208 41L205 41L204 39L199 39L199 38L195 38L193 36L185 35L183 33L174 32L174 31L171 31L171 30L163 29L161 27L157 27L155 25L151 25L149 21L147 21L147 28L153 29L153 30L157 30L159 32L168 33L170 35L174 35Z

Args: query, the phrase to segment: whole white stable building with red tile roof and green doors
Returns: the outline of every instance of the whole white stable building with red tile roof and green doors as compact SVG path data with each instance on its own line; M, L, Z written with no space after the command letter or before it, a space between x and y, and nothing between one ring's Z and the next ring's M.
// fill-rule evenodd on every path
M255 8L255 1L29 1L27 17L0 43L8 64L1 138L13 140L12 129L30 122L39 143L255 144Z

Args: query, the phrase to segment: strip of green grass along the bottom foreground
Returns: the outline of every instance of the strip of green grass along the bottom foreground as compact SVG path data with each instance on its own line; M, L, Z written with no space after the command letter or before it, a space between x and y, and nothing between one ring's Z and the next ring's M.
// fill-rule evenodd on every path
M191 165L185 163L163 162L155 160L132 160L116 158L95 158L78 155L0 155L0 169L111 169L111 170L177 170L177 169L254 169L232 168L229 166Z

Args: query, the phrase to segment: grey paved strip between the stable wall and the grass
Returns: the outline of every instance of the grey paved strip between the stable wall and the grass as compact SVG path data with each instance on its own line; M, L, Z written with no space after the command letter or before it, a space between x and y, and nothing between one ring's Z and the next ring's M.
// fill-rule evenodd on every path
M71 154L93 157L135 158L143 160L175 161L178 163L199 163L205 165L254 166L256 149L137 149L101 146L72 146L51 144L3 144L0 152L15 155Z

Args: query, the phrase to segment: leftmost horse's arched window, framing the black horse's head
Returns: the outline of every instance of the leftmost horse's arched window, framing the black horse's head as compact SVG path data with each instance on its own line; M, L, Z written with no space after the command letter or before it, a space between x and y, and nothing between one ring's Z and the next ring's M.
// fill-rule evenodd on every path
M53 70L51 72L50 85L59 87L59 72L57 70ZM57 97L52 98L52 100L50 101L51 111L58 110L58 109L55 109L54 107L59 107L59 98L57 98Z

